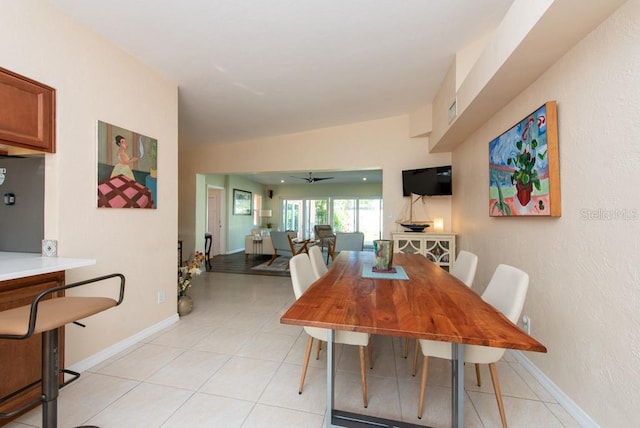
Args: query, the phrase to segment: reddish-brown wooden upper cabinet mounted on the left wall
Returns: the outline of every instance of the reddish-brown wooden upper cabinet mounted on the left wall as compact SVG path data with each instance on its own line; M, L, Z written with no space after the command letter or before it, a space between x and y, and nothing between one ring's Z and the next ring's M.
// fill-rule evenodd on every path
M0 68L0 144L56 151L56 91Z

